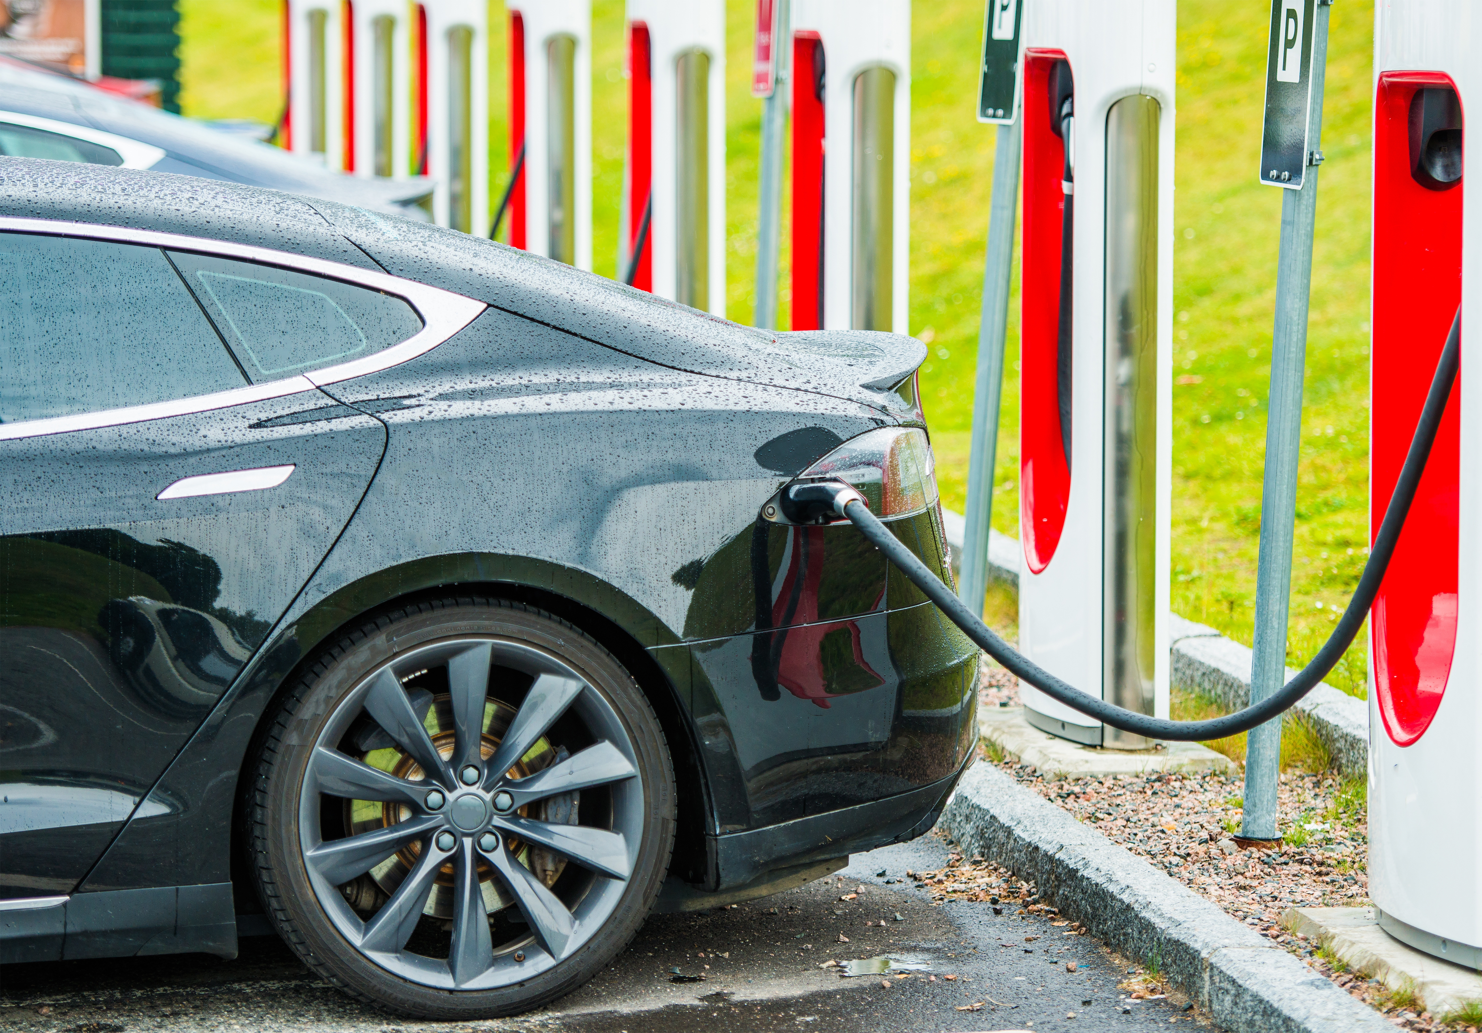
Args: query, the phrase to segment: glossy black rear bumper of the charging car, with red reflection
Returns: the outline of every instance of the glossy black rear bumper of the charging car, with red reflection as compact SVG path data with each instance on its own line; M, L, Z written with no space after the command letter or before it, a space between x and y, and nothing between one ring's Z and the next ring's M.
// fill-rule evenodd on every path
M710 836L923 790L977 744L981 654L931 603L649 655L689 711Z

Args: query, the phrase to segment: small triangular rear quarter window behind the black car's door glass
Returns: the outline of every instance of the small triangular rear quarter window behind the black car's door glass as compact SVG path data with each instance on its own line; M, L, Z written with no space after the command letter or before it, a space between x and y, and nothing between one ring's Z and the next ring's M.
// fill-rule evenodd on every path
M400 298L308 273L170 252L253 381L363 359L415 336Z

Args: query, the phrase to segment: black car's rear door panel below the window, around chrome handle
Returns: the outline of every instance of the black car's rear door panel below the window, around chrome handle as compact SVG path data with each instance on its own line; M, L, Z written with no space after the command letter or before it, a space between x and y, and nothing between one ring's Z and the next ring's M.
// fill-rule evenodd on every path
M385 428L277 422L311 399L0 442L0 898L77 885L350 519ZM279 462L283 492L154 498Z

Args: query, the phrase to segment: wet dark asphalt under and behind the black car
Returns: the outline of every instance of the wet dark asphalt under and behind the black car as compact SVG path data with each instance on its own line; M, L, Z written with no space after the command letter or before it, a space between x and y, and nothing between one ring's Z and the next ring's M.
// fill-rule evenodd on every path
M1017 909L1009 907L994 916L987 904L932 906L928 894L903 876L907 870L943 867L947 849L931 834L855 855L837 876L785 894L701 914L654 916L611 969L571 996L517 1018L419 1023L388 1017L314 978L276 938L250 938L242 941L242 953L231 962L191 954L0 968L0 1029L1208 1029L1197 1011L1183 1009L1181 999L1123 1002L1126 992L1117 984L1128 978L1128 962L1091 937L1064 935L1049 919L1015 914ZM864 892L855 900L840 900L860 886ZM885 980L891 986L882 987L880 975L845 978L834 968L821 968L828 960L882 954L919 969L910 978ZM1076 962L1077 971L1067 972L1067 962ZM704 980L691 981L694 977ZM975 1011L957 1011L980 1002Z

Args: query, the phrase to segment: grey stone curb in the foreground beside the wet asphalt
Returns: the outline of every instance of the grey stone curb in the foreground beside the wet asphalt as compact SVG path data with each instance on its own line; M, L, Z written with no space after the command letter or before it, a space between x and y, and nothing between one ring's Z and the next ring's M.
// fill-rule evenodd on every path
M937 827L1117 951L1150 962L1240 1033L1380 1033L1395 1027L1276 944L1106 836L980 763Z

